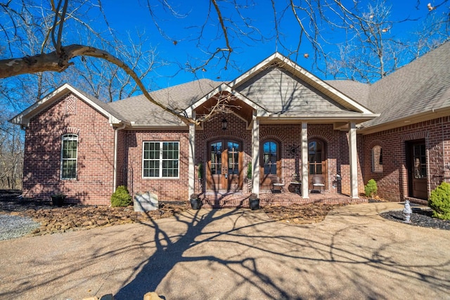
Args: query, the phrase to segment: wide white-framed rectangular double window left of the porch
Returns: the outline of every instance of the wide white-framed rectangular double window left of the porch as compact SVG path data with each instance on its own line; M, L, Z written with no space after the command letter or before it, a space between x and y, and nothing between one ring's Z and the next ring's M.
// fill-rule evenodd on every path
M143 142L142 176L179 176L179 142Z

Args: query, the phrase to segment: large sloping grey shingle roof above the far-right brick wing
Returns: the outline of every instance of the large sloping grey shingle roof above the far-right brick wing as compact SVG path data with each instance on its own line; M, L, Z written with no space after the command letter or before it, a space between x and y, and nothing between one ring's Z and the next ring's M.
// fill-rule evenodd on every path
M368 107L381 115L365 127L450 107L450 41L375 82Z

